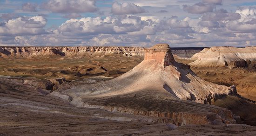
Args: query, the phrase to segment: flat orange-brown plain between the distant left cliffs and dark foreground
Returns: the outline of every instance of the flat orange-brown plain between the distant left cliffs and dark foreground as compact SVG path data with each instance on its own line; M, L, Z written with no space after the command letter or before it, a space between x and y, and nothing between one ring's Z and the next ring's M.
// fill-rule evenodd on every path
M0 75L13 77L59 78L66 80L98 75L116 77L129 71L143 58L106 55L101 58L20 58L0 59Z

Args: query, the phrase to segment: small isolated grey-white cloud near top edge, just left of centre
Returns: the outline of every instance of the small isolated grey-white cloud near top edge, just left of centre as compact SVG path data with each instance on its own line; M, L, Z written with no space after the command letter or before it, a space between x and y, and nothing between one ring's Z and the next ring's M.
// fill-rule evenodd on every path
M137 14L146 12L142 7L133 3L124 2L122 4L114 2L111 8L111 12L116 15L123 14Z

